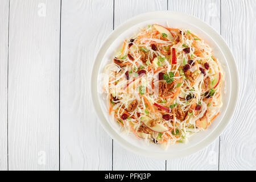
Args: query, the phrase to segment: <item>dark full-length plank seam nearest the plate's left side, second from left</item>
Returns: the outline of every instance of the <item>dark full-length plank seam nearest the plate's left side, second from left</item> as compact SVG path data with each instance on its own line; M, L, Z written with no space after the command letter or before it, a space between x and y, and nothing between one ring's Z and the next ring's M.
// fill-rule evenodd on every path
M61 3L62 3L62 0L60 0L60 49L59 49L59 55L61 52ZM59 171L60 171L60 56L59 56Z

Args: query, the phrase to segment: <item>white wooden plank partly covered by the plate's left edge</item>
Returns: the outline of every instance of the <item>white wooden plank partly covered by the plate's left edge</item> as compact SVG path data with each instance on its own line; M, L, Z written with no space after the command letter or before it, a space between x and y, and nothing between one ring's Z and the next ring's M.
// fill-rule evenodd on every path
M113 0L62 1L60 169L111 170L112 139L90 97L94 57L113 30Z

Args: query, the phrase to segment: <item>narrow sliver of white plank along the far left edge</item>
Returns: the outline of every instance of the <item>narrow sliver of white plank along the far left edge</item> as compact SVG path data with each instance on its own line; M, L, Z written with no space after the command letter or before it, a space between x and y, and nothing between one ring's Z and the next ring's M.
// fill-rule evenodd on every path
M0 1L0 171L7 170L7 61L9 1Z

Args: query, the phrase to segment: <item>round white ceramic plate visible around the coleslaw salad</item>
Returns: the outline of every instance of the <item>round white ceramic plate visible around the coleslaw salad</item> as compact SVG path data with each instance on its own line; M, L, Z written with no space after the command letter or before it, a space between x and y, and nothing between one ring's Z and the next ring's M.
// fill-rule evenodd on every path
M189 138L188 143L177 143L163 150L159 145L146 144L138 140L133 134L122 134L117 122L109 116L106 96L102 93L100 84L101 73L106 64L113 61L115 51L119 49L123 40L134 35L139 28L148 24L162 24L174 28L184 28L195 32L213 49L213 55L220 61L225 72L223 106L220 114L207 130ZM121 146L135 154L148 156L155 159L174 159L190 155L208 146L225 129L233 115L238 96L238 73L232 52L221 36L209 27L208 24L187 14L173 11L156 11L141 14L131 18L126 23L116 28L102 44L96 57L92 70L91 94L94 107L100 122L109 135Z

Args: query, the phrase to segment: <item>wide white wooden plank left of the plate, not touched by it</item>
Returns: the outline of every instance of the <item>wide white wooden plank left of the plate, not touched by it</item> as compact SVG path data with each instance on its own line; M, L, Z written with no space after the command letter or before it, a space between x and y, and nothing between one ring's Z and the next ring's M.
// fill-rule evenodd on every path
M10 1L9 169L59 169L60 1Z

